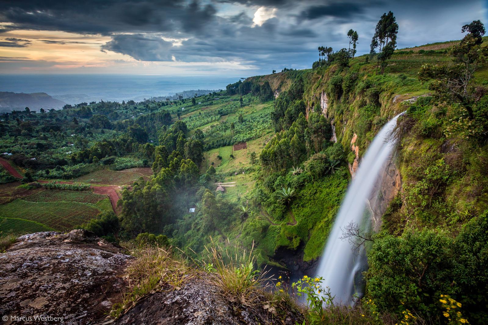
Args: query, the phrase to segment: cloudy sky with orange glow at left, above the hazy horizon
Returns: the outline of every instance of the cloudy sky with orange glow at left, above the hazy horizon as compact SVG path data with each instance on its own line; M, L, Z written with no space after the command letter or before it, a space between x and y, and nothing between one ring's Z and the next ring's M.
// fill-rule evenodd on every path
M253 76L305 69L318 46L369 53L392 11L398 48L488 23L478 0L1 0L0 74Z

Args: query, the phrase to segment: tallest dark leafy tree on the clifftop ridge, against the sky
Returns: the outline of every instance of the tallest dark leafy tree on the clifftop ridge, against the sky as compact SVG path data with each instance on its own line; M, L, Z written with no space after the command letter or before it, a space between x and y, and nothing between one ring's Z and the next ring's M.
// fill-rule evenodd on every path
M393 13L389 11L387 14L383 14L376 24L376 29L371 40L371 54L375 53L378 49L378 64L376 65L376 73L378 73L378 67L381 65L381 74L384 73L386 68L386 60L393 55L393 51L396 48L396 38L398 34L398 24Z

